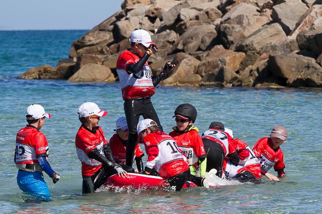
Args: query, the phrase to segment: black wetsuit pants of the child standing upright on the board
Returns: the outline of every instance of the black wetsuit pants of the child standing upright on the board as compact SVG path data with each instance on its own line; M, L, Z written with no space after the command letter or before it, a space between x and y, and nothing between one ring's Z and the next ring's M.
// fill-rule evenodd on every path
M140 98L140 99L130 99L124 102L124 113L126 117L129 138L126 142L126 165L132 166L134 149L138 141L137 125L139 123L140 116L144 119L151 119L155 121L162 131L159 117L156 110L154 109L151 98Z

